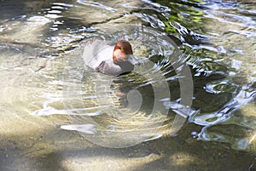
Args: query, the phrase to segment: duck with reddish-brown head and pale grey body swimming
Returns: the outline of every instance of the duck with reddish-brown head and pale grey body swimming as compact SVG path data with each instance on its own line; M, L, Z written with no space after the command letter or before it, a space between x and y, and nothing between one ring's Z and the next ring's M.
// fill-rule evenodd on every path
M113 44L95 40L84 48L84 64L108 75L121 75L133 71L135 60L131 44L120 40Z

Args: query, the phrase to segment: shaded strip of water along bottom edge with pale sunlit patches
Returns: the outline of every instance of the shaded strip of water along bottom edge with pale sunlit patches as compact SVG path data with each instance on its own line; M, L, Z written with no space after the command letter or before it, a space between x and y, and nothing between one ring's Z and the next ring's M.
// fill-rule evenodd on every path
M49 130L32 145L15 140L28 135L6 137L1 146L0 168L13 170L255 170L255 156L234 151L229 145L203 142L189 137L186 124L183 136L165 137L128 148L113 149L93 145L79 134ZM192 126L193 129L199 129ZM14 140L15 139L15 140ZM4 144L4 145L3 145ZM207 155L205 154L207 151Z

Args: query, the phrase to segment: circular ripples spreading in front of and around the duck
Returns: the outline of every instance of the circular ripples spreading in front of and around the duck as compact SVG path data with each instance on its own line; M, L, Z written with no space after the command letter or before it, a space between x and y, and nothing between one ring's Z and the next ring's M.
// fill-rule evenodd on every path
M80 48L69 54L71 58L62 73L62 81L48 83L51 86L61 85L62 94L43 94L46 99L43 108L33 114L58 115L64 120L68 117L70 124L61 128L79 131L86 139L104 146L135 145L163 134L177 133L186 117L194 111L189 110L186 98L175 102L181 104L175 109L171 103L167 105L170 92L166 83L168 76L164 77L163 73L169 65L174 68L172 75L176 75L176 69L179 74L185 74L183 57L179 56L176 45L164 33L146 27L138 33L128 34L137 37L125 37L134 47L140 63L131 74L109 77L89 68L84 70L82 58L78 55L83 50L84 43L81 43ZM116 41L123 36L120 32L105 38ZM152 62L157 56L166 58L167 63ZM180 82L180 79L183 77L177 77L176 81ZM173 125L166 122L170 120L167 117L170 109L177 113Z

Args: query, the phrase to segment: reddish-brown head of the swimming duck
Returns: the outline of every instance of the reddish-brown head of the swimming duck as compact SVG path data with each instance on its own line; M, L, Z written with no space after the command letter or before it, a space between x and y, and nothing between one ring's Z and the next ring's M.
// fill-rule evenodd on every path
M133 54L131 44L125 40L120 40L113 48L113 63L119 64L127 61L129 54Z

